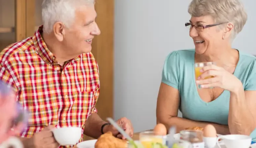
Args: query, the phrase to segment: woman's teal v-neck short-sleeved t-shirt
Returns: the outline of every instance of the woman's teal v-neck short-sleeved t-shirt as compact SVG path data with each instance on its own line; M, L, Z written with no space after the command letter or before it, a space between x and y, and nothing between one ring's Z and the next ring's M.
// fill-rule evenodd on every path
M194 64L195 49L171 52L165 60L162 82L179 89L183 118L228 125L230 92L224 90L214 101L204 102L197 90ZM244 90L256 90L256 57L239 51L234 75L242 82ZM256 129L251 137L256 141Z

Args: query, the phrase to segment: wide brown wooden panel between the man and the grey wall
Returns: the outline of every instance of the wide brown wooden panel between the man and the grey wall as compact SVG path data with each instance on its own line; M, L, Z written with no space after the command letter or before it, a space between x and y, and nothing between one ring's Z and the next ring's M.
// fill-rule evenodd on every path
M96 22L101 34L92 41L92 54L99 65L100 94L96 104L99 116L113 117L114 102L114 0L96 0ZM84 140L91 139L85 136Z

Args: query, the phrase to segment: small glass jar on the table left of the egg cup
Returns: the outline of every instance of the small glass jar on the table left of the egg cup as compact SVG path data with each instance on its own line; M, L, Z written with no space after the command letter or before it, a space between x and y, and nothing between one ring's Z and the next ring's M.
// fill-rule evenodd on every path
M180 131L180 139L190 142L193 148L204 148L202 131L199 131L199 130Z

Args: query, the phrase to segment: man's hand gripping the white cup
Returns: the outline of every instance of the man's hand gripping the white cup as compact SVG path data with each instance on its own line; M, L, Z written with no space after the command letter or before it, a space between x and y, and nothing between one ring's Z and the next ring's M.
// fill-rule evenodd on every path
M35 133L31 138L22 140L25 148L58 148L59 144L55 140L53 126L48 126L41 132Z

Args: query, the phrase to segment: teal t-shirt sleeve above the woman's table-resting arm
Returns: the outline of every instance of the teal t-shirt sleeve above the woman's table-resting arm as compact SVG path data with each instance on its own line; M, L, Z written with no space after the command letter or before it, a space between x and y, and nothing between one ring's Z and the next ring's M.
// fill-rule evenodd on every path
M165 59L162 71L162 82L178 89L179 76L179 53L173 51Z

